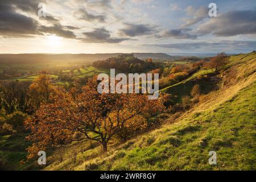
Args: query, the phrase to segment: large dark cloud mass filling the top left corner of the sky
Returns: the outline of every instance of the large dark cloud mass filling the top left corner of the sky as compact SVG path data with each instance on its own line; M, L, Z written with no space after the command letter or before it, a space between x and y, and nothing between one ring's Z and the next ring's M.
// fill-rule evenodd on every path
M40 2L46 2L41 1ZM76 35L59 23L59 20L49 15L42 17L53 26L41 26L39 22L29 16L18 13L17 10L26 13L37 13L39 1L34 0L1 0L0 2L0 35L13 37L27 37L34 35L55 34L63 38L75 39ZM44 19L43 19L44 18ZM70 27L69 27L70 28Z

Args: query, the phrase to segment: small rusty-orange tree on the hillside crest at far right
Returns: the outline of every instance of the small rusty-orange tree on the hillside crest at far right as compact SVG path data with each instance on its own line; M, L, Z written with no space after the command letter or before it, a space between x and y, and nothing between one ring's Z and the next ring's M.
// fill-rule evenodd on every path
M209 69L214 69L215 72L218 72L219 69L227 63L227 56L224 52L218 53L217 56L212 57L210 61L205 63L204 67Z

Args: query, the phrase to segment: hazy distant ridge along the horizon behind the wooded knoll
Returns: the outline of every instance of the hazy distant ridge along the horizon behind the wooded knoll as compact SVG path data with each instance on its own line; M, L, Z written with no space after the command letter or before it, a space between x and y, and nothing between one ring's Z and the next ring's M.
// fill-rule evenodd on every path
M96 53L96 54L46 54L46 53L31 53L31 54L0 54L1 63L40 63L51 61L88 61L105 60L110 57L115 57L121 53ZM134 53L139 59L175 59L179 56L170 56L166 53Z

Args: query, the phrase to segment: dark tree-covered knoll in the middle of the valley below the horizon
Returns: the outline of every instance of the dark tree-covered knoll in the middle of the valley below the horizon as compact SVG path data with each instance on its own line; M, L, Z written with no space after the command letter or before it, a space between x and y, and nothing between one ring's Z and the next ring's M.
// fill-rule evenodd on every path
M115 68L119 72L125 73L141 73L156 68L158 63L153 63L152 59L143 61L134 57L132 53L127 53L118 55L117 57L110 57L106 60L95 61L93 62L93 66L106 69Z

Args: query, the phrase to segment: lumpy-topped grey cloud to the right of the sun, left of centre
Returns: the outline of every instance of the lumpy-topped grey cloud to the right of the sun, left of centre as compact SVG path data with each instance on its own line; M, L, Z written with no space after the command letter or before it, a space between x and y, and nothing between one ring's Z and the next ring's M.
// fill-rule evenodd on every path
M105 28L95 28L93 31L82 33L86 38L81 38L86 43L120 43L129 38L112 38L110 32Z

